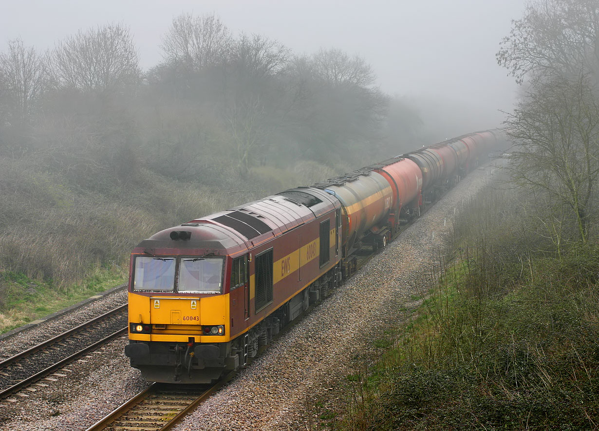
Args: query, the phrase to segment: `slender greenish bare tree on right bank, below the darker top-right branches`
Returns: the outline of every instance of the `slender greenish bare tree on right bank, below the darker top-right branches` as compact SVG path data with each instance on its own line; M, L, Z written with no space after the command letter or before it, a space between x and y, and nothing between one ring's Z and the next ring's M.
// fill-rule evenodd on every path
M509 168L513 180L569 208L577 239L587 242L599 180L599 104L588 78L536 81L506 125L518 144ZM556 223L549 225L556 230Z

